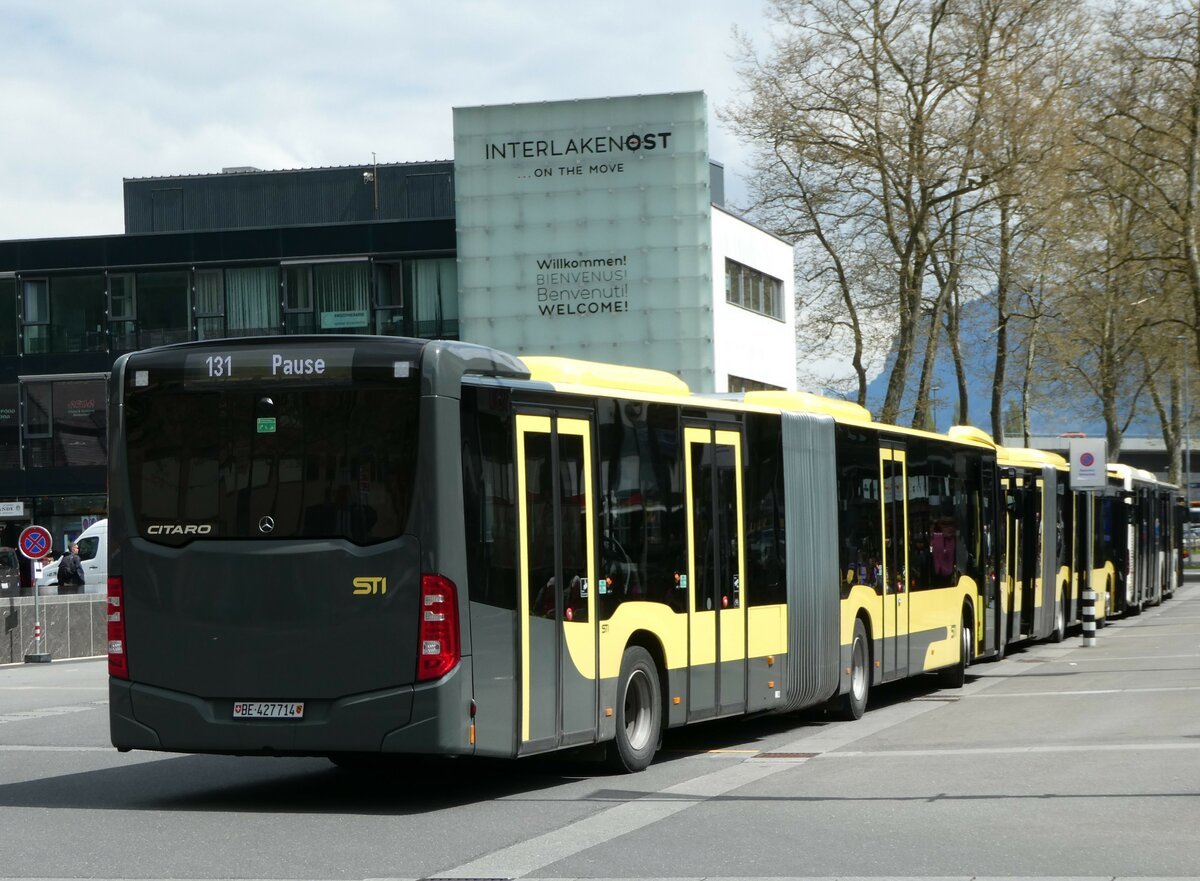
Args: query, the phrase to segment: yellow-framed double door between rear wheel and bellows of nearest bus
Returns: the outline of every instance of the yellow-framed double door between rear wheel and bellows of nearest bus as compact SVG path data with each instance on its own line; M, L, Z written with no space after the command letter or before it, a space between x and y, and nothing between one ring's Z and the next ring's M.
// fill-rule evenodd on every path
M742 434L688 426L688 719L746 706Z

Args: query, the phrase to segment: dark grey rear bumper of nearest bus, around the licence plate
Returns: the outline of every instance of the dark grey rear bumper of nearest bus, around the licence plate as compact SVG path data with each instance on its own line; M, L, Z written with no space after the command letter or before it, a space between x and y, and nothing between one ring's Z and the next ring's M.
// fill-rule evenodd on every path
M227 755L436 753L470 744L470 659L434 683L336 700L305 700L304 719L234 719L232 697L205 699L108 681L109 735L118 749ZM302 695L280 695L298 701Z

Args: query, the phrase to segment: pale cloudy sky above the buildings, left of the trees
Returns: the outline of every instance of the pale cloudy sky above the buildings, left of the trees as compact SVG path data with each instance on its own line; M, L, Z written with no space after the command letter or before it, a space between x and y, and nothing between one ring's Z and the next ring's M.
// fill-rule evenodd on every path
M121 180L449 160L451 109L703 91L737 205L762 0L2 0L0 240L124 232Z

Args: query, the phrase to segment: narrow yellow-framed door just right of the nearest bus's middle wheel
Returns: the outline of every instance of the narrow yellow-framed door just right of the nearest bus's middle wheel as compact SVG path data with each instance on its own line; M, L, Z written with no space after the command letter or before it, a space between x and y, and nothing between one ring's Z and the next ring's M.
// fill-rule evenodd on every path
M904 447L880 449L883 481L883 679L908 675L908 474Z

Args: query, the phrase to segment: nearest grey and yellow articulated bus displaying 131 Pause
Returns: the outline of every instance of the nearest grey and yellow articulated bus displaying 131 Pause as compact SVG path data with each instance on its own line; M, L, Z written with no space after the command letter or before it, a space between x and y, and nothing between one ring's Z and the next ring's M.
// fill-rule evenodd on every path
M872 685L961 685L1003 645L978 432L364 336L132 353L109 406L121 750L604 744L637 771L666 727L854 719Z

